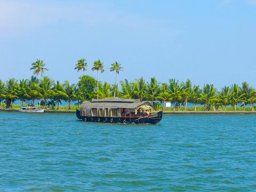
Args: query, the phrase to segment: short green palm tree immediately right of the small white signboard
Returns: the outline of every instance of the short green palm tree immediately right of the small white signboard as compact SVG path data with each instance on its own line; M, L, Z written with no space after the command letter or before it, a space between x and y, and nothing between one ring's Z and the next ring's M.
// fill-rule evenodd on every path
M170 98L173 101L173 110L175 111L175 103L182 100L182 88L179 81L175 79L169 79L169 92Z

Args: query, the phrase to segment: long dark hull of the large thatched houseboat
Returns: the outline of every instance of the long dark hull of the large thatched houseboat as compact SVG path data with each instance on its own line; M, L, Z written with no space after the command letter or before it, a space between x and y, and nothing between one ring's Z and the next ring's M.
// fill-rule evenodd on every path
M92 117L80 116L80 111L76 110L76 116L85 122L99 123L136 123L136 124L158 124L163 116L163 111L159 111L155 117Z

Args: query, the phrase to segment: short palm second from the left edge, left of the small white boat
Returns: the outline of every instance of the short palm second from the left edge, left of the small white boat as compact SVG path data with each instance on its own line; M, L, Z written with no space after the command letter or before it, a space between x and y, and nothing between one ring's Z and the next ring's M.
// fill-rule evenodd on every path
M9 107L9 101L10 101L10 107L12 108L13 100L18 98L18 92L19 92L19 84L17 83L17 80L14 78L10 78L9 81L7 81L5 86L5 102L6 102L6 108Z

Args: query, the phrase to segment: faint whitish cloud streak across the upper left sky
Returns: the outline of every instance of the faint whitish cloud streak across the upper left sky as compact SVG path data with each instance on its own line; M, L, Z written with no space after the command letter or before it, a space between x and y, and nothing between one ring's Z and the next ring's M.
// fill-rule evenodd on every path
M59 21L79 22L82 25L111 25L114 23L141 26L139 18L104 9L98 5L74 5L65 3L35 3L33 1L0 2L0 34L33 30Z

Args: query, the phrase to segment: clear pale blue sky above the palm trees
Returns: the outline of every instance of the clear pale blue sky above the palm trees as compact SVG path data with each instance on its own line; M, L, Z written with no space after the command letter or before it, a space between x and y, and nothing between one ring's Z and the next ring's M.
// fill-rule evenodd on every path
M0 0L0 79L30 78L42 59L45 75L78 81L101 60L100 81L114 83L111 63L122 63L118 81L170 78L203 86L243 81L256 86L256 0Z

